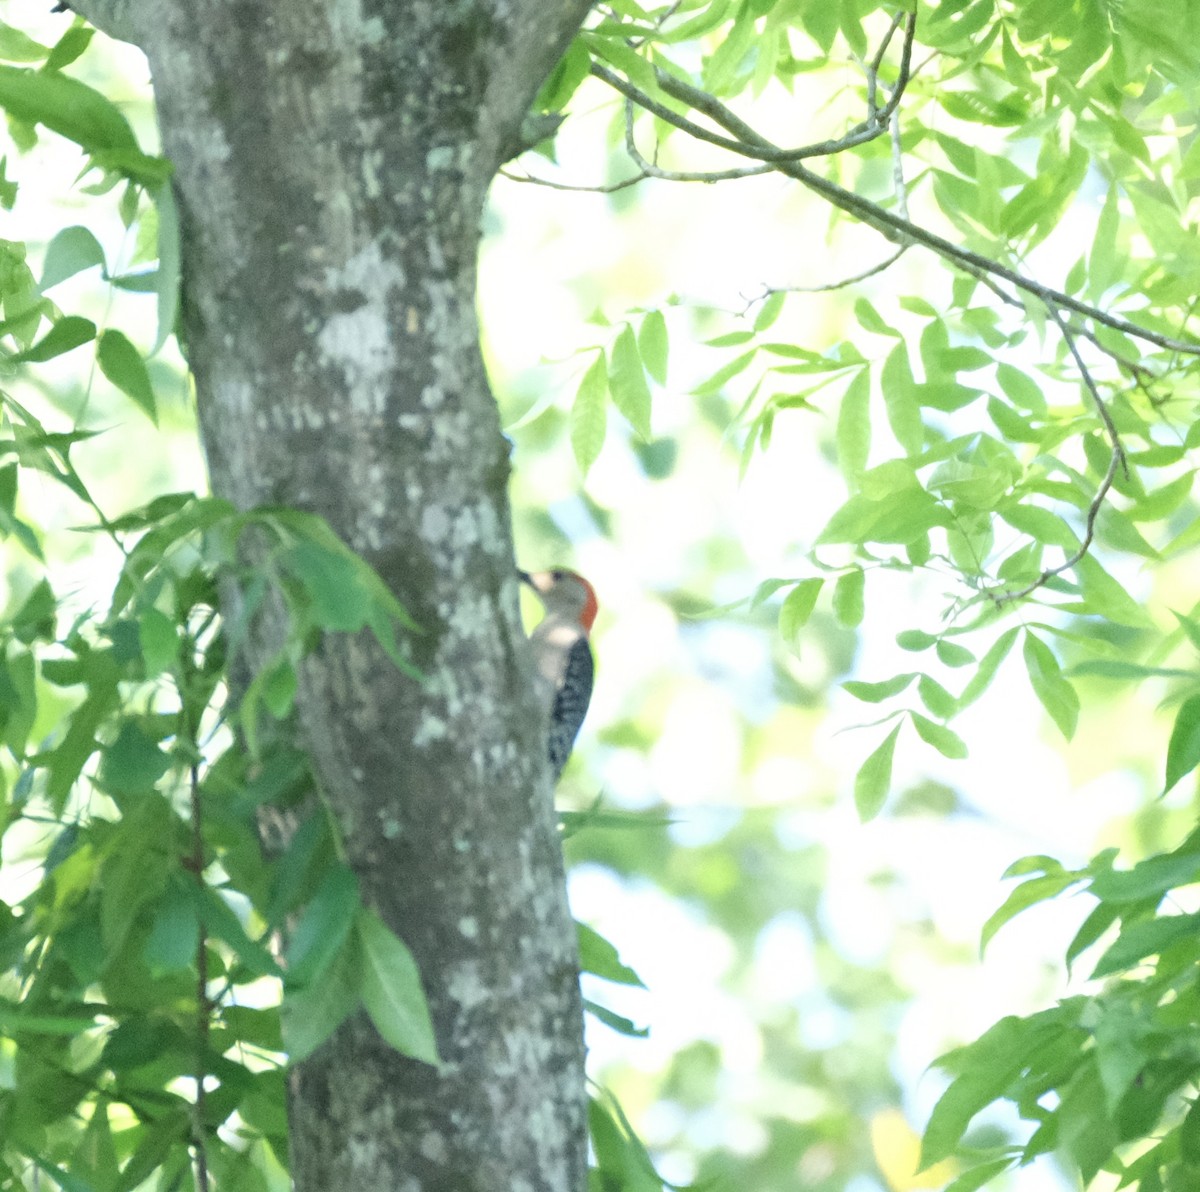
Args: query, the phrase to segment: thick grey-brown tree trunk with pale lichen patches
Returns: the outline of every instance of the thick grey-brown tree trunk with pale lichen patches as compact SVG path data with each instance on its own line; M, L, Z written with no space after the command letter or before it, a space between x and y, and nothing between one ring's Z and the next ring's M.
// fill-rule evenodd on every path
M214 492L324 515L422 630L421 683L326 640L300 714L444 1065L359 1014L296 1066L300 1192L587 1184L575 938L474 305L488 184L587 7L131 4Z

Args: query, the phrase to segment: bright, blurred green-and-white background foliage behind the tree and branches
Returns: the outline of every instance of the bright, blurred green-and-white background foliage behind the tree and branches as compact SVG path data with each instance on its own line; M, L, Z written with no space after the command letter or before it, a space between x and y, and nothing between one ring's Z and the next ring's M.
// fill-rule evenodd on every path
M708 71L714 90L752 98L761 126L785 130L779 136L791 143L836 136L860 118L856 55L869 43L853 31L878 36L887 12L856 0L796 0L690 4L684 16L706 7L718 19L679 54L703 60L701 74ZM635 10L601 7L596 20L636 22ZM70 28L68 17L11 0L0 0L0 19L43 44ZM1016 242L1014 256L1051 284L1094 256L1109 180L1148 180L1142 190L1129 186L1121 208L1122 220L1138 209L1140 230L1132 218L1122 222L1111 278L1102 284L1098 262L1088 282L1091 300L1115 287L1138 306L1140 293L1165 303L1181 277L1196 276L1200 157L1189 113L1200 42L1166 32L1194 24L1188 5L1128 0L1121 20L1114 37L1114 8L1104 4L923 5L918 30L932 65L910 88L902 128L917 163L910 197L922 202L919 221L980 251L1007 253ZM746 30L749 40L722 49ZM985 32L988 44L974 53ZM0 56L20 61L14 49L10 28ZM143 146L155 144L149 78L136 50L97 38L71 72L118 103ZM1038 98L1056 85L1060 98L1070 91L1074 100ZM574 92L553 148L509 173L611 184L629 174L623 136L613 92L589 79ZM120 188L92 193L95 175L77 176L74 146L48 134L23 143L13 126L10 138L6 168L20 188L0 212L0 228L13 230L0 235L29 245L35 277L44 246L74 223L103 246L110 275L152 259L149 204L127 229ZM665 160L674 144L666 142ZM708 168L709 151L698 154ZM679 164L683 151L671 160ZM834 158L832 170L856 191L886 198L887 138ZM1016 192L1025 194L1020 217L1021 204L1016 214L1009 205ZM997 212L1008 212L1007 227L984 210L988 196L1004 197ZM985 343L1008 336L1008 359L1030 373L1036 365L1055 371L1063 353L1045 347L1052 335L1043 340L1044 328L1028 339L1014 330L1037 323L1027 311L1001 307L994 323L977 316L972 325L962 317L971 303L961 278L917 251L853 286L805 292L859 275L892 251L830 210L793 181L766 175L718 186L649 180L611 193L500 178L486 212L479 306L512 443L521 562L577 567L601 603L598 687L560 789L570 813L570 892L576 916L616 944L646 986L592 982L587 995L648 1035L628 1037L589 1020L592 1071L674 1184L713 1180L756 1192L944 1187L960 1170L954 1160L916 1174L918 1134L947 1083L929 1065L997 1018L1081 988L1086 976L1076 974L1072 986L1061 962L1090 909L1069 898L1007 926L980 957L980 928L1007 893L1006 867L1030 853L1082 864L1108 846L1134 859L1176 845L1196 813L1192 779L1162 796L1170 731L1162 703L1177 679L1080 673L1079 727L1067 742L1014 658L955 719L970 756L947 759L911 733L901 737L886 809L862 822L856 774L881 730L859 726L880 714L840 684L914 669L896 635L940 634L953 624L947 611L972 593L947 569L906 567L871 569L860 623L845 610L835 615L828 595L796 625L780 618L790 587L754 599L766 580L815 574L814 541L846 484L836 401L785 402L767 427L757 407L746 412L752 370L712 379L737 352L728 337L755 333L770 304L773 341L826 359L856 345L878 363L890 341L881 347L871 337L875 312L916 351L924 315L911 301L905 309L907 295L954 309L956 342L972 333ZM1142 268L1168 257L1174 270ZM17 268L14 259L5 268ZM781 306L767 296L787 287L800 289ZM120 328L143 351L155 339L154 295L114 288L95 270L50 296L62 310ZM602 447L581 451L581 419L593 418L583 431L595 442L594 415L576 402L587 370L625 321L640 330L650 312L661 322L650 334L667 351L661 377L647 370L648 427L608 407ZM643 345L647 359L653 352ZM149 370L157 423L77 357L4 378L6 391L48 425L96 432L72 461L109 513L204 489L191 395L172 345ZM1043 382L1050 389L1038 375ZM776 396L786 397L786 387L780 378ZM1067 396L1050 393L1081 405L1078 383ZM1170 397L1190 411L1194 376L1181 373ZM35 477L23 481L18 510L38 527L46 569L68 607L94 606L119 559L100 535L72 532L78 505ZM1171 535L1195 515L1183 497L1170 511ZM1166 665L1170 651L1188 648L1178 635L1164 645L1162 627L1165 610L1186 613L1195 604L1194 556L1122 556L1121 528L1102 526L1100 557L1153 610L1159 633L1151 661ZM1018 534L1009 540L1019 543ZM0 603L19 607L41 575L42 564L8 537ZM1147 648L1145 629L1072 621L1069 610L1056 624L1078 635L1056 639L1068 672L1094 659L1090 637L1111 647L1109 657ZM942 664L935 673L954 685L953 672ZM61 719L66 700L47 689L34 739ZM55 832L26 816L5 834L8 902L38 880ZM11 1053L0 1060L11 1065ZM1021 1134L1015 1118L996 1110L968 1140L985 1146L1014 1133ZM1096 1184L1116 1185L1105 1175ZM1055 1192L1075 1182L1044 1160L996 1186Z

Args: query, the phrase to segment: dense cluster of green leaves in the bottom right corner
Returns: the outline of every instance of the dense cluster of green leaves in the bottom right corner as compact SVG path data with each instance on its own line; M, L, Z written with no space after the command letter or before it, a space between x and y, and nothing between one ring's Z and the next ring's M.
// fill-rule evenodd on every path
M1008 876L1022 881L989 920L984 942L1014 915L1076 891L1094 905L1067 963L1099 948L1091 980L1103 984L1050 1010L1004 1018L937 1061L950 1083L925 1131L925 1166L955 1152L976 1115L996 1101L1010 1102L1034 1127L1024 1145L977 1152L947 1192L971 1192L1048 1152L1067 1156L1085 1185L1102 1170L1118 1178L1117 1187L1140 1192L1194 1181L1200 944L1198 916L1180 900L1200 881L1200 833L1130 869L1114 861L1109 850L1081 869L1040 856L1009 868Z

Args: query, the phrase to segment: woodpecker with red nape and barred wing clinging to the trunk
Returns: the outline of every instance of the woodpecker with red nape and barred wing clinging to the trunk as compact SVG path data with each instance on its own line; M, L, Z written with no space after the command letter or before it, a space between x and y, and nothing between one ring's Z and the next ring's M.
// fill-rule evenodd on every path
M596 594L582 575L562 568L520 575L546 610L529 643L546 715L550 768L557 781L592 699L594 671L588 634L596 616Z

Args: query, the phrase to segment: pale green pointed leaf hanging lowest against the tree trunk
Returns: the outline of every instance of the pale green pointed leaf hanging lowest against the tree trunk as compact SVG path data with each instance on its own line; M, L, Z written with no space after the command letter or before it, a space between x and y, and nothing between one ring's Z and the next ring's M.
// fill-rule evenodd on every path
M412 952L366 906L359 911L358 936L362 948L362 1005L376 1030L397 1052L438 1065L433 1023Z

